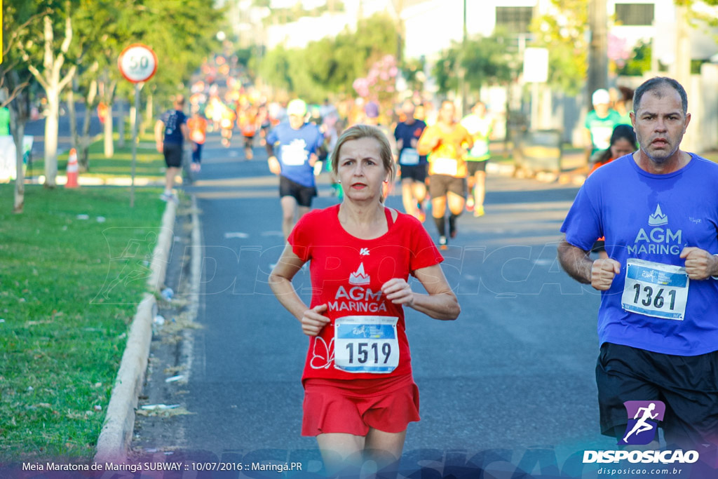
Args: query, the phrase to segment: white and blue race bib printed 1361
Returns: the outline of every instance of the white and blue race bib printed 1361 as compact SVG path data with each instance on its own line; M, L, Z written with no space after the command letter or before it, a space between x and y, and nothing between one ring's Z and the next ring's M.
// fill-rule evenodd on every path
M646 316L683 320L689 282L680 266L629 259L621 306Z

